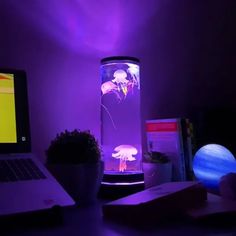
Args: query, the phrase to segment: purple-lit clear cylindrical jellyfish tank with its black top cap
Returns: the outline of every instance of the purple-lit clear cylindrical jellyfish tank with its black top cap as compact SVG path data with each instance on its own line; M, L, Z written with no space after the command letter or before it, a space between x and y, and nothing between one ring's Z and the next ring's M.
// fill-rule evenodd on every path
M101 60L101 144L104 174L142 173L139 60Z

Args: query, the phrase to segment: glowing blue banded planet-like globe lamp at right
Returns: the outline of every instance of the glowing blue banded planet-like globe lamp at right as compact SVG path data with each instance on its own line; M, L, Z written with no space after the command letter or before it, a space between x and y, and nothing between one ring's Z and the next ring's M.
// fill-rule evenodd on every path
M207 189L218 191L220 178L230 172L236 172L235 157L222 145L208 144L196 152L193 171L195 177Z

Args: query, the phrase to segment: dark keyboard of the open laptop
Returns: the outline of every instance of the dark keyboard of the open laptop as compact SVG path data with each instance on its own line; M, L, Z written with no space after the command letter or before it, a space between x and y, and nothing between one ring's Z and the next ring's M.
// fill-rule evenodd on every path
M30 158L0 160L0 182L46 179Z

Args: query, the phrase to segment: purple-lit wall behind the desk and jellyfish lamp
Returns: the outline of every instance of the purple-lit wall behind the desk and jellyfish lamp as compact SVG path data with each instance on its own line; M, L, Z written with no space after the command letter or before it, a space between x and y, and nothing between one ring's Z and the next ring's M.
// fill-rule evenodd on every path
M1 0L0 67L28 73L33 151L43 159L65 128L100 137L106 56L141 60L143 120L234 115L234 9L233 0Z

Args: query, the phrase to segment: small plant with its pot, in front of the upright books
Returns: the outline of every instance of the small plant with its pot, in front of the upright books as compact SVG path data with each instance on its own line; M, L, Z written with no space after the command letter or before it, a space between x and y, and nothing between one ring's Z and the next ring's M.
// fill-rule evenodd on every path
M143 161L145 188L172 180L172 163L165 153L151 151L144 154Z

